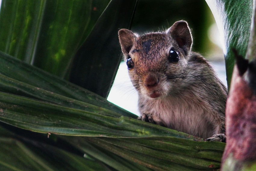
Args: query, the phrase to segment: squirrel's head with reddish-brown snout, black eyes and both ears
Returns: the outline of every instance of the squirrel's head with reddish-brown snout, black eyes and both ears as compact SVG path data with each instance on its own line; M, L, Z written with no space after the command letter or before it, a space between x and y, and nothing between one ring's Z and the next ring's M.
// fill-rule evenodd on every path
M133 86L149 98L167 96L186 74L192 35L186 21L177 21L166 32L142 36L120 29L119 41ZM172 80L172 81L170 81Z

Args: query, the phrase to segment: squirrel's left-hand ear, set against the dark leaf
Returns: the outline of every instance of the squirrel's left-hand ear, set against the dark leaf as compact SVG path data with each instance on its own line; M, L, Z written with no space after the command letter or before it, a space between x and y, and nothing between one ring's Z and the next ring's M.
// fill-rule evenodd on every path
M127 29L120 29L118 31L119 42L124 55L128 55L134 42L136 41L136 35Z

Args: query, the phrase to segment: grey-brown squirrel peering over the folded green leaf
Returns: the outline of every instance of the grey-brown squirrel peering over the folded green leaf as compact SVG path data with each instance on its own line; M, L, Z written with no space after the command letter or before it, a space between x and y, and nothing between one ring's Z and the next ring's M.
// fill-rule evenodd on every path
M139 120L225 142L227 89L208 61L191 51L186 21L142 36L120 29L118 36L139 94Z

